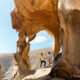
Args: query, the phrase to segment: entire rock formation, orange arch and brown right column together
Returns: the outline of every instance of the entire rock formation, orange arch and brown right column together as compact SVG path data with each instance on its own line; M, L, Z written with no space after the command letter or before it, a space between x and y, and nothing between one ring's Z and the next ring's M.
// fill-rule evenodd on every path
M20 70L24 69L21 64L25 65L25 70L30 69L29 42L35 38L37 32L46 30L55 39L54 57L60 50L60 43L62 46L62 57L47 76L49 80L51 77L70 79L78 76L80 74L80 1L59 0L58 3L58 0L14 0L14 2L16 7L11 17L13 28L19 32L19 51L15 58ZM25 38L29 39L28 42L25 42ZM47 77L45 80L48 80Z

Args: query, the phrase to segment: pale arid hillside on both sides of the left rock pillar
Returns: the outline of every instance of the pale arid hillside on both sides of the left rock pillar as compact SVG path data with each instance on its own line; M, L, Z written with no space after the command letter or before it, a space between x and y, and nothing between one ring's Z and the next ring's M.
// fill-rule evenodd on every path
M48 66L48 60L47 55L48 52L52 53L52 48L43 48L38 50L33 50L29 52L29 59L31 62L31 68L32 70L36 70L40 68L40 54L43 53L44 57L46 58L47 66ZM2 80L13 79L13 68L15 66L14 64L14 56L12 53L10 54L0 54L0 63L2 66ZM16 71L15 71L16 72Z

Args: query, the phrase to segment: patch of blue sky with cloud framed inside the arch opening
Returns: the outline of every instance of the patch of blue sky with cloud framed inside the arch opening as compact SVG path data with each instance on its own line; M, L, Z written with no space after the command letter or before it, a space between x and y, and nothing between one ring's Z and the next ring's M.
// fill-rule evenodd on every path
M34 50L35 48L40 49L52 46L53 40L51 36L45 31L38 32L36 38L31 42L31 50Z

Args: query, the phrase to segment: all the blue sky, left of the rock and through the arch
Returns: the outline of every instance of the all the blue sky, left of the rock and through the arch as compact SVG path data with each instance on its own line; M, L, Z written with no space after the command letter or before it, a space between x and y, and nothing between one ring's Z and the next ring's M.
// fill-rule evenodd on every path
M12 29L10 17L13 9L13 0L0 0L0 53L16 52L18 33ZM31 42L30 50L51 47L52 43L52 38L45 31L41 31Z

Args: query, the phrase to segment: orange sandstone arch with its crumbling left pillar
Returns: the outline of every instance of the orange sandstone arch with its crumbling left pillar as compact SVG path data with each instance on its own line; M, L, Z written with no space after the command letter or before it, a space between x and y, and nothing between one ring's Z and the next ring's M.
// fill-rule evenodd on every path
M54 57L60 51L58 0L14 0L14 2L16 7L11 12L11 17L13 28L19 32L19 40L17 42L19 49L17 53L20 54L19 56L16 54L15 58L17 60L18 57L23 65L30 69L28 57L29 43L36 37L37 32L46 30L52 37L54 36ZM28 42L26 42L26 38L29 39ZM20 60L17 60L17 62L20 63ZM18 66L21 67L19 64ZM22 68L22 70L25 70L24 67Z

